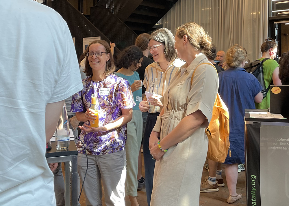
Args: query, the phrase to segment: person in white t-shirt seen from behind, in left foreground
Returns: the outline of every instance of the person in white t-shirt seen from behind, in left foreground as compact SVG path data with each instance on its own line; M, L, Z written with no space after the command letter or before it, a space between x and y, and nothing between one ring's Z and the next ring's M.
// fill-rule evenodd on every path
M83 88L75 47L53 9L32 0L0 8L0 205L55 206L45 145L64 100Z

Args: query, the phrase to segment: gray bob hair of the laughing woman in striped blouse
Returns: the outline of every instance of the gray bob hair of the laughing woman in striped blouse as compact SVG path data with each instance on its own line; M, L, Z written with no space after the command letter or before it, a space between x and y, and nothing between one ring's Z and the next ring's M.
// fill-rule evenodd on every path
M170 62L178 58L177 50L175 49L175 38L170 30L166 28L157 29L149 36L149 41L152 39L164 44L166 61Z

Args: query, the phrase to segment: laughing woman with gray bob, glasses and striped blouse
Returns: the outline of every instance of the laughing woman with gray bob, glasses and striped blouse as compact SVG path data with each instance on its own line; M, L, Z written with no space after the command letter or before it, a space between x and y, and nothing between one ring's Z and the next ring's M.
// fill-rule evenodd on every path
M148 65L145 69L143 85L147 92L153 93L153 88L157 90L156 92L154 90L154 95L148 100L144 97L143 101L139 104L140 111L149 112L144 129L143 156L147 202L150 205L155 160L149 151L149 138L157 118L160 118L160 106L162 104L159 98L164 95L171 79L174 78L179 68L184 64L184 61L177 58L174 36L166 28L158 29L150 35L149 46L147 48L153 55L155 62ZM153 106L151 105L152 103L158 104Z

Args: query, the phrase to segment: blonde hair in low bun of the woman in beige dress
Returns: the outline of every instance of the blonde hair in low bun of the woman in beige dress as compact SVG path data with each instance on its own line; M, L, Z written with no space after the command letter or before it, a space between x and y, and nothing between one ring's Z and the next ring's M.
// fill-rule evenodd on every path
M210 52L213 44L212 38L197 23L188 22L179 26L177 28L177 36L181 39L184 35L187 35L188 41L196 51Z

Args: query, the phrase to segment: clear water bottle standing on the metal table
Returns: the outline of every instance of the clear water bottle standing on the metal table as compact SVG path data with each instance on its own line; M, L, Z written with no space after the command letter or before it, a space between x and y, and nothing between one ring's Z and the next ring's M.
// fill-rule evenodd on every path
M55 131L55 143L57 150L66 150L69 147L69 123L65 103Z

